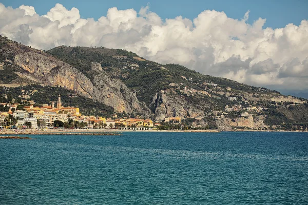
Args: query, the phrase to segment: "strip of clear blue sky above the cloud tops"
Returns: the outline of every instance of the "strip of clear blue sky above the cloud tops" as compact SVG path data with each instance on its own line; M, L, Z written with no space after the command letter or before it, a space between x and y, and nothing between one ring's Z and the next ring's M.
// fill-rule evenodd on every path
M254 20L266 18L265 27L282 28L288 23L299 25L302 19L308 19L307 0L220 0L220 1L187 1L187 0L88 0L88 1L42 1L42 0L2 0L5 6L17 8L20 5L33 6L36 13L46 14L56 3L60 3L67 9L78 8L82 18L93 17L98 19L105 16L108 8L117 7L118 9L133 8L139 11L142 6L150 5L150 10L157 13L162 18L174 18L178 15L190 19L195 18L204 10L224 11L228 17L242 18L247 10L250 10L248 22L252 24Z

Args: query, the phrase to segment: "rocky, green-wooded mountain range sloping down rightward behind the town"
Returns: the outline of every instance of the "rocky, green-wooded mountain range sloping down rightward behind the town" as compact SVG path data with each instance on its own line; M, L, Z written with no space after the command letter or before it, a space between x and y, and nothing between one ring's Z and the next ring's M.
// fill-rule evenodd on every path
M209 128L305 129L307 100L104 47L40 51L0 37L6 84L63 87L115 112ZM5 73L5 74L4 74Z

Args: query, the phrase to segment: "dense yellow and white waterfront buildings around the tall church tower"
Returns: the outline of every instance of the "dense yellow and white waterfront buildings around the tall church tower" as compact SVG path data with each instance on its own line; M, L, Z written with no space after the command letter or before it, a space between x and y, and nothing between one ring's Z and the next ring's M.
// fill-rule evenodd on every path
M6 129L26 129L26 128L71 128L71 129L122 129L122 130L151 130L157 129L161 125L159 121L143 118L118 118L113 114L111 118L104 116L82 115L78 107L62 106L61 95L57 101L52 101L50 105L41 107L33 106L34 101L29 102L29 106L19 103L0 103L0 106L7 111L0 112L1 128ZM180 123L180 117L165 118L165 122Z

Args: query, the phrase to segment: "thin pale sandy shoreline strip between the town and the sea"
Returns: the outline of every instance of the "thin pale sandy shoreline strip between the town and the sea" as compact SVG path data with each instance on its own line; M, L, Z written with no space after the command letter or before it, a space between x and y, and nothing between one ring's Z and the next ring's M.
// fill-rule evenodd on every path
M80 135L119 135L123 132L186 132L186 133L219 133L219 132L305 132L305 131L290 131L290 130L119 130L119 129L26 129L26 130L2 130L0 134L23 134L23 135L59 135L59 134L80 134Z

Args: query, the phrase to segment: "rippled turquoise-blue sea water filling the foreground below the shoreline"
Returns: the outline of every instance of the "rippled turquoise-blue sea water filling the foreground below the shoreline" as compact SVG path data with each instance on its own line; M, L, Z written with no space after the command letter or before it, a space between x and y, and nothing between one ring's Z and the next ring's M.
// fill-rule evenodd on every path
M0 140L0 204L308 204L308 134Z

